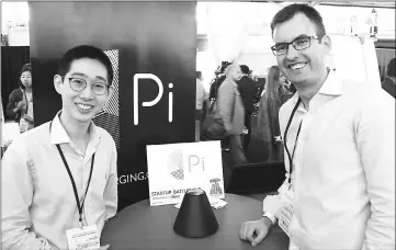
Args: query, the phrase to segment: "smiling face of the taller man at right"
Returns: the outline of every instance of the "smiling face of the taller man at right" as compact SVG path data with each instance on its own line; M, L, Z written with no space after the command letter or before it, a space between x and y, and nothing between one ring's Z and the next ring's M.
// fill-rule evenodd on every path
M274 44L291 43L297 37L317 36L315 24L303 13L295 14L291 20L275 26L273 31ZM286 54L276 56L282 73L296 87L321 83L327 69L325 55L329 53L331 42L328 36L310 39L310 47L296 50L288 46Z

